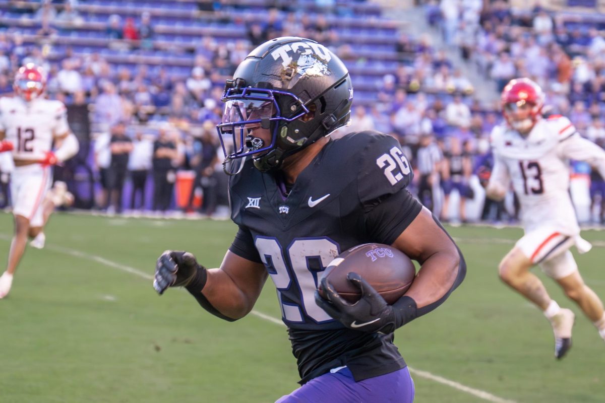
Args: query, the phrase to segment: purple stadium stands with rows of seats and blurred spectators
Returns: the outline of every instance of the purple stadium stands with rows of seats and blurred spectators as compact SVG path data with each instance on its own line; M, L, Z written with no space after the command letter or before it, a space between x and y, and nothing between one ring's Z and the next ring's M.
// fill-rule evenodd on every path
M552 81L558 84L547 87L553 112L571 113L572 100L584 101L589 113L602 111L605 104L595 92L602 79L593 65L599 59L587 60L590 52L605 48L595 34L605 21L592 17L580 23L577 15L565 13L553 21L549 34L544 10L513 12L502 1L485 9L480 1L461 4L443 0L423 7L445 43L459 47L463 59L479 66L486 79L500 88L515 75ZM513 27L494 28L494 21L511 21ZM390 133L412 156L423 135L433 135L442 152L450 137L459 137L476 153L498 121L494 105L474 98L466 70L434 47L430 33L411 32L373 2L0 0L0 26L0 92L11 92L12 74L21 63L39 63L50 73L50 97L72 108L90 108L91 129L81 136L86 144L89 134L97 138L118 122L127 123L131 134L149 138L168 122L183 154L178 170L195 170L195 144L203 126L220 120L224 80L269 37L311 37L338 53L355 85L352 127ZM569 40L560 43L561 37ZM549 40L549 51L537 50ZM524 63L528 55L534 59ZM582 79L582 88L574 92ZM587 99L596 101L589 105ZM587 120L577 126L587 130L586 111L579 104L574 108L578 118ZM85 176L85 193L99 171L92 160L82 152L73 169L80 172L78 178ZM80 196L79 207L93 206L91 196ZM176 196L173 207L192 208L184 202L192 197ZM148 200L146 207L151 206Z

